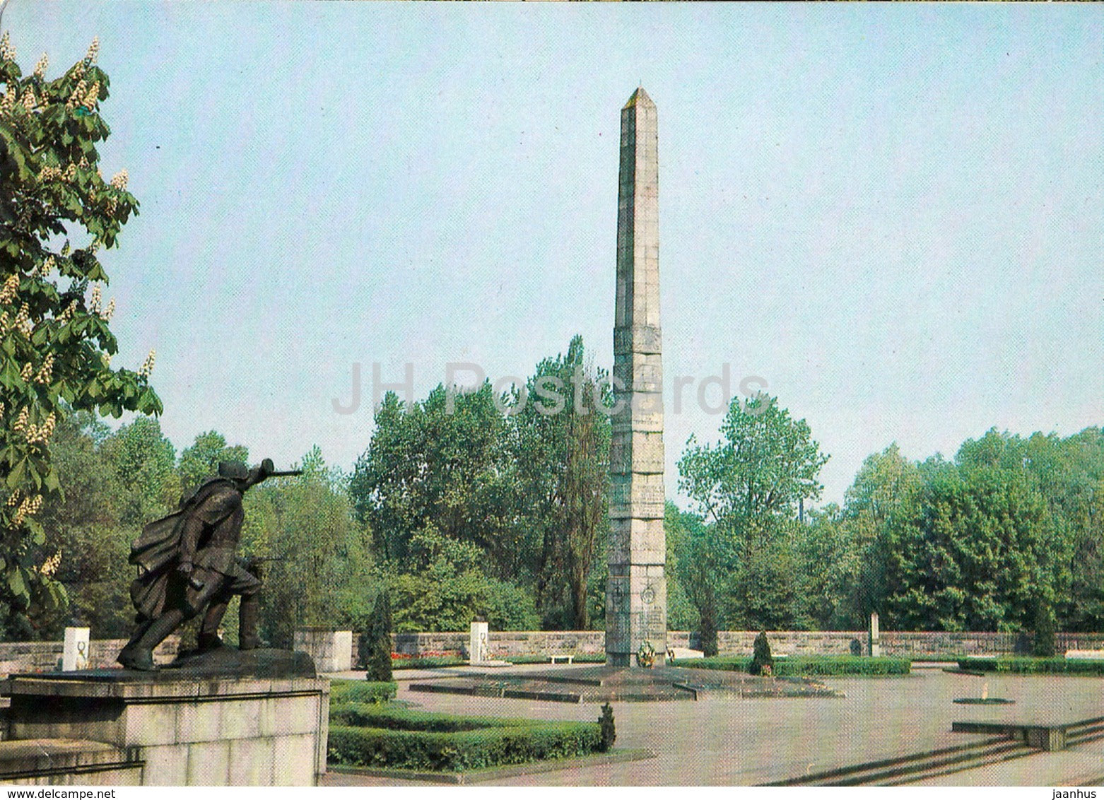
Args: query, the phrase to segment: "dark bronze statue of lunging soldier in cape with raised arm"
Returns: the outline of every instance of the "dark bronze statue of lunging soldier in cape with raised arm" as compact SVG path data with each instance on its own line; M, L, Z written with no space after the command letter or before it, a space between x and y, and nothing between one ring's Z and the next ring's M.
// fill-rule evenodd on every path
M153 648L204 608L199 650L221 647L219 625L234 595L242 598L238 649L258 647L261 580L236 554L245 519L242 495L267 478L294 474L301 472L277 472L267 458L253 469L241 461L224 461L219 476L181 499L177 511L142 529L130 547L130 563L138 566L138 577L130 585L138 628L119 651L120 664L156 669Z

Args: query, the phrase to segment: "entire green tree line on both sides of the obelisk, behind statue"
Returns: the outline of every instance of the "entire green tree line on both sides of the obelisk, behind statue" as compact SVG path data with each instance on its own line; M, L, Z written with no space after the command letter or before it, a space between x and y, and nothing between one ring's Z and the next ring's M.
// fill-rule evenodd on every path
M604 384L581 338L537 365ZM572 390L569 388L570 393ZM245 497L243 552L265 562L262 634L367 629L384 591L395 630L604 625L609 417L570 396L560 413L437 386L408 407L384 397L351 473L316 447L299 478ZM511 409L519 409L512 413ZM505 410L503 410L505 409ZM43 562L68 607L7 604L8 639L96 636L130 626L129 543L220 460L248 450L216 431L179 454L156 419L110 430L87 412L51 440L64 500L40 516ZM720 438L691 438L668 501L668 621L724 629L853 630L878 611L898 630L1100 630L1104 625L1104 434L1021 438L989 430L951 460L911 461L895 445L866 459L842 505L815 506L827 456L776 398L734 401ZM806 508L807 506L807 508ZM233 636L234 615L227 615Z

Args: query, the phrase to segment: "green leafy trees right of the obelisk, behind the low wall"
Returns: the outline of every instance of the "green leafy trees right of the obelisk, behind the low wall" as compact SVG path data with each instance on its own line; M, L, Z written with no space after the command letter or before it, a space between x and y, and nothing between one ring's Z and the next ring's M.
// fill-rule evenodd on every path
M722 439L679 462L693 508L668 505L675 572L707 649L720 629L1101 630L1104 434L996 429L951 460L869 456L843 504L810 510L826 457L772 402L733 404ZM694 619L697 615L697 619ZM681 621L681 620L680 620Z

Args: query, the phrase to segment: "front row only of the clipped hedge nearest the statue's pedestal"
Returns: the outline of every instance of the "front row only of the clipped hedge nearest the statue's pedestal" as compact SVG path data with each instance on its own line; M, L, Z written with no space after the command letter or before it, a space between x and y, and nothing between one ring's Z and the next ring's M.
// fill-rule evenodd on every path
M602 748L598 723L530 723L474 730L390 730L330 725L329 760L361 767L463 771L567 758Z

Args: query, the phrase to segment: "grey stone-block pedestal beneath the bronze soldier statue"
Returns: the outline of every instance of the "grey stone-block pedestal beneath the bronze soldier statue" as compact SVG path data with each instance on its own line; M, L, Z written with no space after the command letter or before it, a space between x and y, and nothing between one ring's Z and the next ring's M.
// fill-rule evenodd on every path
M141 762L142 786L317 786L328 680L173 672L13 675L6 738L110 745Z

